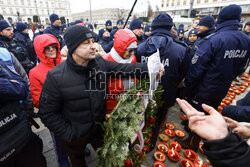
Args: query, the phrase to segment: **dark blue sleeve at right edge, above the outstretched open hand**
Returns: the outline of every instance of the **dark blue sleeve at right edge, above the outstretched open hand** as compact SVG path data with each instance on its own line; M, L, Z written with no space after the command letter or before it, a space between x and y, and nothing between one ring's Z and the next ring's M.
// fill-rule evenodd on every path
M222 115L230 117L238 122L250 122L250 92L236 106L226 106L222 110Z

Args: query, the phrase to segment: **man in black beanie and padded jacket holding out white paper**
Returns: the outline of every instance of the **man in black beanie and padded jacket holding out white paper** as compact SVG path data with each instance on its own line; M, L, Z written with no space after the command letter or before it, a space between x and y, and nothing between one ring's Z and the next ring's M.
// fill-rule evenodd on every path
M95 123L102 123L106 113L106 76L109 72L120 72L122 77L147 76L148 68L146 64L119 64L95 56L94 37L86 27L72 26L64 38L68 58L48 72L39 114L45 126L63 140L72 166L82 167L86 166L87 143L95 149L102 144L102 131ZM132 73L136 69L140 72Z

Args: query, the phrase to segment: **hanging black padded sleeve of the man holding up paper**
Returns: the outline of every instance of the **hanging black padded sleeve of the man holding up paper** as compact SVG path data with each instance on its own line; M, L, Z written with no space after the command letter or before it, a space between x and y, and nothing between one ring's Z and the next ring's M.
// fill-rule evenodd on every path
M70 142L73 139L73 128L62 117L62 103L63 99L58 84L49 71L40 95L38 114L50 131L63 140Z

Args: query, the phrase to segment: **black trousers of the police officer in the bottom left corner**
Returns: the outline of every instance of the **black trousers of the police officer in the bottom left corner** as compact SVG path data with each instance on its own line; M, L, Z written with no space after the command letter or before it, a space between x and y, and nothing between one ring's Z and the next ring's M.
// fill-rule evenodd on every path
M12 157L3 167L46 167L43 156L43 142L32 132L29 142L19 153Z

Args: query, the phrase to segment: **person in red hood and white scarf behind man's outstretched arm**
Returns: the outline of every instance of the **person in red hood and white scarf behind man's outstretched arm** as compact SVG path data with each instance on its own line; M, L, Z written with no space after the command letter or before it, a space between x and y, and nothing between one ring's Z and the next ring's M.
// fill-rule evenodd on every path
M137 38L129 29L121 29L115 33L114 46L104 59L116 63L137 63L134 51L137 48ZM130 89L136 79L109 79L106 114L110 114L117 105L115 95Z

